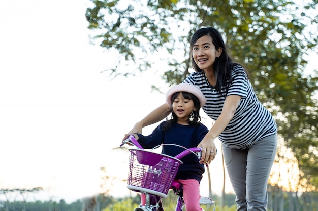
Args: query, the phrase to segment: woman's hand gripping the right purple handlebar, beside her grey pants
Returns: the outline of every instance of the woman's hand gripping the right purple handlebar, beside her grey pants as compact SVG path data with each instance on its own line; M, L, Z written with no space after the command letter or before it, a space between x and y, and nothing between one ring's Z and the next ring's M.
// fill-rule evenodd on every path
M209 136L209 133L202 139L198 147L202 148L202 156L199 163L210 164L216 156L216 146L214 144L214 138Z

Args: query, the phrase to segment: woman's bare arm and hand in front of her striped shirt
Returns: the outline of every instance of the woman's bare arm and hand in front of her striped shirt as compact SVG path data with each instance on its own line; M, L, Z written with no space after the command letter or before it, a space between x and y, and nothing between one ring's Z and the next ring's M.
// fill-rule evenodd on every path
M202 157L200 163L210 163L214 160L216 155L216 147L214 144L214 139L224 131L226 126L229 124L234 116L237 106L240 102L241 96L239 95L229 95L224 102L222 113L216 119L214 125L207 133L207 135L200 142L198 147L202 147ZM213 153L210 153L213 152Z

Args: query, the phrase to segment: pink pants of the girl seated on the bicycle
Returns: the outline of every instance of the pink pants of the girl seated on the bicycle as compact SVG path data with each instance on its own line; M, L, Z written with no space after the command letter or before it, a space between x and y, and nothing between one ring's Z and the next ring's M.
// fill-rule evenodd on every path
M176 180L183 185L183 200L185 209L189 211L201 211L200 207L200 183L195 179ZM141 205L146 204L146 195L141 194Z

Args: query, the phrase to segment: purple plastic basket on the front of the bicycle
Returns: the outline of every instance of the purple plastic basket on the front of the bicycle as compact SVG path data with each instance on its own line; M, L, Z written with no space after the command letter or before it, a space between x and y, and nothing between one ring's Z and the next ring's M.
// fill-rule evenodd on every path
M127 188L136 192L167 197L182 162L174 157L130 149Z

